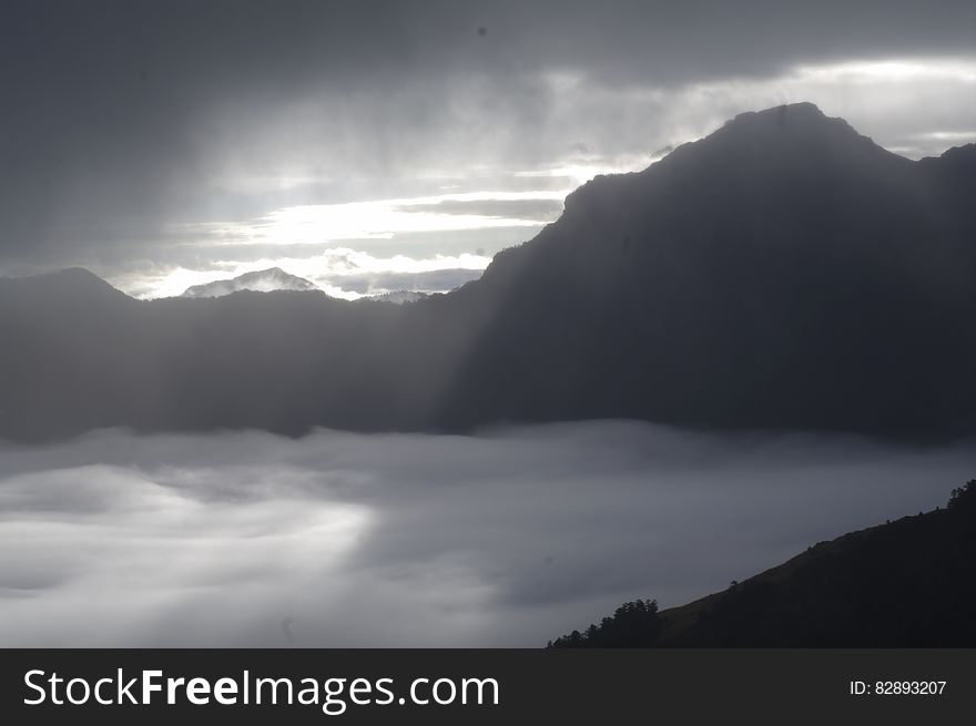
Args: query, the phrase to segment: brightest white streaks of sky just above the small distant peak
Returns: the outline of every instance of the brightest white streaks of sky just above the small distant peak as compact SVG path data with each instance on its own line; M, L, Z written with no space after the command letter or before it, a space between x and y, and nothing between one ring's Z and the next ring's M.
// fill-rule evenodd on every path
M251 223L176 225L181 234L197 239L190 243L192 246L217 250L234 247L240 252L241 247L248 246L293 249L295 246L321 246L323 243L339 243L340 246L311 256L264 255L246 262L217 260L207 269L177 266L155 275L116 276L111 282L140 298L172 297L181 295L192 285L279 267L315 283L326 294L344 299L400 289L444 293L478 277L491 262L490 256L479 249L427 257L416 257L409 252L380 257L348 245L393 239L397 235L491 228L527 229L525 238L529 238L542 224L558 216L562 201L570 191L475 192L299 205L276 209ZM525 209L520 209L522 205ZM448 270L454 275L429 274ZM465 270L469 274L465 274ZM364 284L365 278L372 278L372 282ZM385 280L390 284L385 284ZM356 284L349 286L349 282Z

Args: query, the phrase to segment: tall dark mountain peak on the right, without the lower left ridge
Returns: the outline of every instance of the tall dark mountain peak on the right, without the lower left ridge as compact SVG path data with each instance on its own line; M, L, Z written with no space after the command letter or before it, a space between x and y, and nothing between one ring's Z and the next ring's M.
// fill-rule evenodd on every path
M799 104L597 177L458 295L484 329L445 420L970 428L974 170Z

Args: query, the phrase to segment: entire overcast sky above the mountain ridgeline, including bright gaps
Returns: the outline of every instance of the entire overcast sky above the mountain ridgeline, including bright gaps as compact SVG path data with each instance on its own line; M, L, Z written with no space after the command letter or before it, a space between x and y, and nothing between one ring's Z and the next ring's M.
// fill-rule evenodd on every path
M813 101L913 157L976 141L974 37L968 0L8 1L0 273L449 287L741 111Z

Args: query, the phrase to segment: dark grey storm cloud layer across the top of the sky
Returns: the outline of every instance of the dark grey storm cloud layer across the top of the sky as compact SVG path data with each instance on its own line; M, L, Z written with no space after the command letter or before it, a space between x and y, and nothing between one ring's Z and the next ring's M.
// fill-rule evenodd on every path
M262 171L551 160L560 74L668 88L969 52L974 18L962 1L4 2L0 263L114 260L167 223L260 214L228 180Z

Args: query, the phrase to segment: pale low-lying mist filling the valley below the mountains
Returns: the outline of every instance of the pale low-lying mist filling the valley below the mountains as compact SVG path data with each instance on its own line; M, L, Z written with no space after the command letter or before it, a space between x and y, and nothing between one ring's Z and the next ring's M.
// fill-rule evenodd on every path
M636 422L0 446L0 645L540 646L943 504L976 447Z

